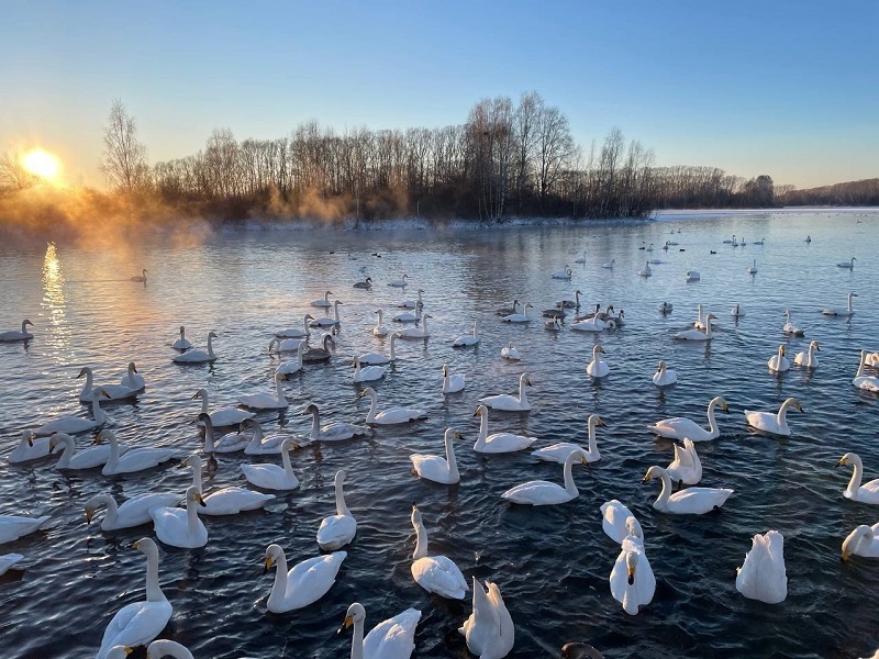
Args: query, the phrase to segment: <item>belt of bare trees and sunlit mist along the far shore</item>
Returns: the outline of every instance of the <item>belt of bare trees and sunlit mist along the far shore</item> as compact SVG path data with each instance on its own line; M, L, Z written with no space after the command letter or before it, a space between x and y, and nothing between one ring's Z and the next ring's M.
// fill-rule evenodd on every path
M536 92L483 99L463 124L346 129L316 121L277 139L215 130L194 155L153 165L134 118L111 108L101 170L111 188L55 188L0 157L0 235L107 241L218 228L498 226L523 221L643 221L663 209L879 205L879 179L812 190L715 167L656 167L653 149L612 129L575 143Z

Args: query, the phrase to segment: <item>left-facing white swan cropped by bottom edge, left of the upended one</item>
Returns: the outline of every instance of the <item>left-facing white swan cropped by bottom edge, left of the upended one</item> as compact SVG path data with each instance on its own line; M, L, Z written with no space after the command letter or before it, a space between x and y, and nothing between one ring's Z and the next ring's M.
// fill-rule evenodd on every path
M358 602L348 606L344 629L354 625L351 641L351 659L409 659L415 649L415 627L421 612L407 608L372 627L364 638L366 610ZM342 629L340 629L342 632Z

